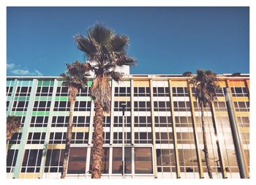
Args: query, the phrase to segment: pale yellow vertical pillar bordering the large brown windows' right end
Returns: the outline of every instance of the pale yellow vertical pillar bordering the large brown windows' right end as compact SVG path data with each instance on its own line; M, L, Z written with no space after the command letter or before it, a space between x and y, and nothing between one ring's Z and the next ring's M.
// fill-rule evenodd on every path
M157 148L156 148L156 130L154 128L154 98L153 98L153 86L152 79L149 80L150 86L150 102L151 102L151 120L152 120L152 139L153 139L153 167L154 178L157 178Z

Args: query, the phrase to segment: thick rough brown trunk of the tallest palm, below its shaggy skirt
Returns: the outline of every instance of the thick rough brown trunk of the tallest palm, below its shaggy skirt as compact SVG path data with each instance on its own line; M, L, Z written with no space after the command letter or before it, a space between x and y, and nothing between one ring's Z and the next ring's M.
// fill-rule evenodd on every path
M94 138L91 162L91 178L101 178L102 171L102 154L103 154L103 128L102 116L103 107L99 103L95 104L96 111L94 117Z

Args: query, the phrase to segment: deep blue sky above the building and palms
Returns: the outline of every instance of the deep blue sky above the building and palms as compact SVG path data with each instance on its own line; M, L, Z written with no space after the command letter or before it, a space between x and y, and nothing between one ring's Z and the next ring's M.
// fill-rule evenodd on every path
M7 7L7 75L59 75L84 61L96 21L130 38L131 74L249 73L249 7Z

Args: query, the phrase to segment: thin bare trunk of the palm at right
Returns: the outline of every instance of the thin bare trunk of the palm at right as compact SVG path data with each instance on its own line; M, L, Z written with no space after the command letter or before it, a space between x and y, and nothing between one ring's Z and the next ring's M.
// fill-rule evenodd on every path
M205 153L206 167L207 167L209 178L213 178L211 173L210 162L209 162L208 146L206 142L206 128L205 128L205 121L203 118L203 102L201 102L200 106L201 106L201 119L202 119L202 129L203 129L203 147L204 147L203 151Z

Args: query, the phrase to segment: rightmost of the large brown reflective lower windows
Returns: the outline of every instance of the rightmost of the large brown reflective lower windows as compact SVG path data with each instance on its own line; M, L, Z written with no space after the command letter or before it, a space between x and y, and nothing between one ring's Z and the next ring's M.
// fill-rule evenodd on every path
M151 148L135 148L135 173L153 173Z

